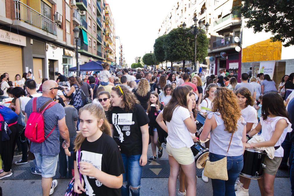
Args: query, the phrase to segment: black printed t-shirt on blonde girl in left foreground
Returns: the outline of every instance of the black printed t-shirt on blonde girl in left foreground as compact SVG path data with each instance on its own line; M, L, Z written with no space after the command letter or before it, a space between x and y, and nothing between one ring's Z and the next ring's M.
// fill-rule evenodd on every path
M73 158L75 161L78 160L78 151ZM94 142L89 142L86 139L82 143L80 161L91 163L97 169L110 175L120 176L125 172L121 153L116 142L105 133L102 133L101 137ZM121 195L120 188L106 187L95 177L82 175L82 178L85 182L84 189L86 192L79 195Z

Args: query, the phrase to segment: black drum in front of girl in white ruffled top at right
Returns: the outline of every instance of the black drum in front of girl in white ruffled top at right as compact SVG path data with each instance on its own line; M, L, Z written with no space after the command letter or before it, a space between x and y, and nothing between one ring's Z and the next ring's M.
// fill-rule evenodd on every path
M245 148L243 155L244 166L240 175L251 179L261 178L263 176L263 168L266 167L263 164L265 156L266 152L264 150Z

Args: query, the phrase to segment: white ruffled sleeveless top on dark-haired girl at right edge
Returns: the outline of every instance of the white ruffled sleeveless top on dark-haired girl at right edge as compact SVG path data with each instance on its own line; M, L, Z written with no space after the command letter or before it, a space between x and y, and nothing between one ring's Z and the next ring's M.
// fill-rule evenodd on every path
M275 131L275 125L277 124L278 120L280 119L285 119L287 120L288 127L286 127L279 138L278 142L274 146L280 146L282 145L283 141L285 140L286 134L292 131L292 124L289 122L289 120L285 117L277 116L275 118L267 118L265 121L263 121L263 117L260 117L260 124L262 126L262 133L261 137L265 139L265 141L270 140L270 138L273 136L273 133ZM284 149L282 146L275 150L275 157L283 157L284 156Z

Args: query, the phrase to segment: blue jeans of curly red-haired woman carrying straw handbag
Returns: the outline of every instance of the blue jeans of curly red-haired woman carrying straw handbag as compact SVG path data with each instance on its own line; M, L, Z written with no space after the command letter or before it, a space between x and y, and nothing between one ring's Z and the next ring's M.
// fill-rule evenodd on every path
M214 162L224 158L223 155L217 155L214 153L209 153L209 160ZM228 180L217 180L211 179L213 195L221 196L235 196L235 182L239 176L241 170L243 169L243 155L240 156L227 156L227 170L228 170Z

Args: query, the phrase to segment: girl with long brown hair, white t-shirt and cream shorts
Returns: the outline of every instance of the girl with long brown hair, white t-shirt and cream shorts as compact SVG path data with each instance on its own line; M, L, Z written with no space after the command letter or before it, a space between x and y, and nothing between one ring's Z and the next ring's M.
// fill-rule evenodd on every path
M196 133L192 105L188 88L178 86L174 89L171 100L156 118L158 125L168 133L166 151L171 166L168 178L169 195L176 195L180 167L187 179L186 195L196 195L196 165L191 150L194 142L190 135Z

